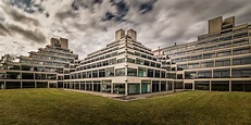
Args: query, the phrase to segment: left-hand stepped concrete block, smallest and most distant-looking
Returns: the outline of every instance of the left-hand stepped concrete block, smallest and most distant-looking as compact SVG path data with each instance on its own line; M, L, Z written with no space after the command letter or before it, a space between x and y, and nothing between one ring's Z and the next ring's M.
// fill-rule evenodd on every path
M11 88L63 88L63 80L78 64L78 55L68 49L64 38L51 38L50 45L29 57L20 57L20 62L0 64L0 87Z

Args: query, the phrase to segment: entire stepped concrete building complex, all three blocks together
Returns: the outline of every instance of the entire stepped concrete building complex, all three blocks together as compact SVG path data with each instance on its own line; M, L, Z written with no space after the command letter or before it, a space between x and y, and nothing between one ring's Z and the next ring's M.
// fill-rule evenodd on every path
M209 21L197 41L152 51L137 41L134 29L115 32L115 40L83 61L67 39L20 62L0 64L0 88L68 88L106 93L141 95L173 89L251 91L251 24L235 17Z

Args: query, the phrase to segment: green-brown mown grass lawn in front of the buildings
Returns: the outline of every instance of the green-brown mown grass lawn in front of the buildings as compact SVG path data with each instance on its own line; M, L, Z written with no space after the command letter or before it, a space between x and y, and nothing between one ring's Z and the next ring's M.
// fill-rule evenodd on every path
M185 91L122 102L58 89L0 90L0 124L251 124L251 92Z

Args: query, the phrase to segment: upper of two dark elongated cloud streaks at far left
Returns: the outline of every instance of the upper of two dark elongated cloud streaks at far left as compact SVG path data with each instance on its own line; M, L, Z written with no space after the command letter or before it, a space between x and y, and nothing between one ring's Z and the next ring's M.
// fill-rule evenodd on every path
M21 14L20 12L15 11L12 8L4 8L4 11L15 22L21 22L23 24L33 24L35 26L39 26L40 25L40 23L37 20L28 17L28 16L26 16L24 14Z

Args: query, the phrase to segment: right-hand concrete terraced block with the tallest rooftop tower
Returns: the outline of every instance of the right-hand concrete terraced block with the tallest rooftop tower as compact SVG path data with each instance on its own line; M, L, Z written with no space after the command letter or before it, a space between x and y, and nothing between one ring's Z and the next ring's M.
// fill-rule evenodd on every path
M235 16L219 16L209 21L209 33L197 41L154 53L185 89L251 91L250 39L250 24L235 25Z

